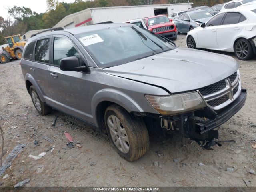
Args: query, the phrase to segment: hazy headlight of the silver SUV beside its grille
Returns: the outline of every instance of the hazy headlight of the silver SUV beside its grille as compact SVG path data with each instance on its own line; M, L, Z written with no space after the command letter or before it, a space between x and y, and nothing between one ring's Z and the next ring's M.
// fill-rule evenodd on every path
M162 115L174 115L206 107L198 92L173 94L169 96L145 96L148 102Z

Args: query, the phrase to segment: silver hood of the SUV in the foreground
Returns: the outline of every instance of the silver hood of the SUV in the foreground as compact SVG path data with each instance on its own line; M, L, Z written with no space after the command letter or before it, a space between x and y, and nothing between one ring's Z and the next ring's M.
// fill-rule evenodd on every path
M152 84L171 93L196 90L218 82L238 70L230 56L189 48L176 48L134 62L104 68L111 75Z

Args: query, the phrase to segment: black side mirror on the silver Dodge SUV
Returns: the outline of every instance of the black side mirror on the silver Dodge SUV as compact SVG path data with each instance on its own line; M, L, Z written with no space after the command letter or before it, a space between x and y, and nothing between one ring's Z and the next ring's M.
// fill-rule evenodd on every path
M86 66L80 66L77 57L67 57L60 60L60 70L62 71L83 71L87 72Z

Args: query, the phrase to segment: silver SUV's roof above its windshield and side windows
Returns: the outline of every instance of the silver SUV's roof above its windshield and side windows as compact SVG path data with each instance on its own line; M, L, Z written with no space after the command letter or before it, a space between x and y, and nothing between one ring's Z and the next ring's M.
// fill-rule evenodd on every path
M76 35L84 32L90 32L95 30L102 30L106 28L115 28L115 27L122 27L122 26L132 26L132 24L128 23L108 23L108 24L94 24L94 25L88 25L88 26L82 26L82 27L75 27L70 29L63 29L63 30L57 30L57 31L49 31L49 32L43 32L40 34L37 34L36 36L29 39L30 41L36 40L38 38L49 36L49 35L58 35L58 34L64 34L65 32Z

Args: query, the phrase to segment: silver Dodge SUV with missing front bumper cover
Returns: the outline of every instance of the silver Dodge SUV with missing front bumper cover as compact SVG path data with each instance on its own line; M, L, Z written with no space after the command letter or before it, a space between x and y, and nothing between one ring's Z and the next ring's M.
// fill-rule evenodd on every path
M98 24L31 38L21 60L36 110L52 108L106 128L126 160L149 133L180 132L208 148L246 100L230 56L178 48L132 24Z

